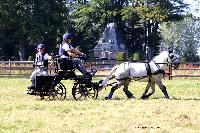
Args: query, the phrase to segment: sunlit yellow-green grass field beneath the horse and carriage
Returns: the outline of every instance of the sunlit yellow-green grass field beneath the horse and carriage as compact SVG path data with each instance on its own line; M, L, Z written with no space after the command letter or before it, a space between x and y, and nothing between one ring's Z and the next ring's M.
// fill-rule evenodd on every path
M64 101L41 101L26 94L28 79L0 79L0 133L121 133L200 132L200 79L163 80L170 100L156 86L148 100L140 100L146 83L132 82L136 100L128 100L122 89L113 100L75 101L72 81Z

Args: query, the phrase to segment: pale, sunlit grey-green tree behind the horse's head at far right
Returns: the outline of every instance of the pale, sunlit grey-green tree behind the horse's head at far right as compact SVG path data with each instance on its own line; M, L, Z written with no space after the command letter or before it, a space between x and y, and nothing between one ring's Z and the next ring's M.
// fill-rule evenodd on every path
M174 49L186 61L199 61L200 23L195 17L186 17L180 22L163 23L162 47Z

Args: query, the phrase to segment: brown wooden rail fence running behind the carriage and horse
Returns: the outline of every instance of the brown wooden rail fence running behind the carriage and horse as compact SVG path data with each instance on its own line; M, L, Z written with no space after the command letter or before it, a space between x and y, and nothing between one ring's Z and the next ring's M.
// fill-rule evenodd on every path
M51 64L52 62L49 62ZM113 61L98 61L98 62L85 62L87 67L93 65L98 66L98 72L96 77L105 76L107 71L109 71L114 65L121 62ZM0 61L0 77L17 77L17 78L28 78L32 71L34 70L33 61ZM161 64L161 63L158 63ZM55 67L49 65L49 73L54 73ZM172 77L200 77L200 63L181 63L179 69L174 70L171 65L169 65L166 71L166 76L169 79Z

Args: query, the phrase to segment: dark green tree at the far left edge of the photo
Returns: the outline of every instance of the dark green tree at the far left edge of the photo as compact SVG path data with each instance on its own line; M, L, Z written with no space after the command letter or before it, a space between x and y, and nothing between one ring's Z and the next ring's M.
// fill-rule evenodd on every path
M25 34L24 27L26 23L23 20L28 20L27 15L24 14L26 10L20 6L21 3L17 0L0 1L0 40L3 49L3 58L7 56L15 56L17 47L23 44L23 36ZM22 11L23 10L23 11ZM22 17L24 19L22 19ZM23 23L23 25L22 25ZM23 55L23 52L20 53Z

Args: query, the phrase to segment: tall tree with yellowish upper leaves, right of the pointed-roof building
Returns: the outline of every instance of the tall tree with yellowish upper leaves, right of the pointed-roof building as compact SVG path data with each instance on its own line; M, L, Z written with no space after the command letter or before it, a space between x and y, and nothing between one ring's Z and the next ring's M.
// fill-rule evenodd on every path
M145 53L145 47L149 46L153 49L152 54L156 55L161 40L159 23L180 20L181 9L185 6L177 0L148 0L147 3L144 0L134 0L132 6L124 7L121 14L126 25L123 28L127 34L126 44L131 47L129 51Z

